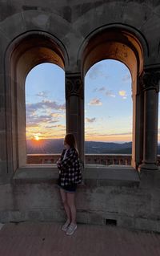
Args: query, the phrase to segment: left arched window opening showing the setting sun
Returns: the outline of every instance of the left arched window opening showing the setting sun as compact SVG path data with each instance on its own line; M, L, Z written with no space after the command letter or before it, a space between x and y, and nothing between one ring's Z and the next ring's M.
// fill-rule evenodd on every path
M62 138L66 133L64 83L64 71L52 63L39 64L27 75L27 154L54 154L62 151ZM32 159L34 160L33 156ZM39 155L38 162L52 163L53 156L47 158ZM35 162L29 159L29 163L34 164Z

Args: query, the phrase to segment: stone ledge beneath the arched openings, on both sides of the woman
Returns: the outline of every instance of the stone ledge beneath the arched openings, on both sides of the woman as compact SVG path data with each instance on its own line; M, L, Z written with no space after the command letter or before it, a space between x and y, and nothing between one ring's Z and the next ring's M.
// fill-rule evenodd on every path
M56 165L26 165L14 173L14 184L22 183L56 183L58 180L58 168ZM82 185L139 185L138 172L131 167L106 167L102 165L86 165L83 170Z

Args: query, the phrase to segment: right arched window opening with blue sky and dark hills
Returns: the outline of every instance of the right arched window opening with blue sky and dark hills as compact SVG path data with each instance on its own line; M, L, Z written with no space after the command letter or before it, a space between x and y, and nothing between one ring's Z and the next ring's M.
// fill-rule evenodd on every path
M106 59L90 67L85 77L86 153L131 154L132 105L131 75L123 63Z

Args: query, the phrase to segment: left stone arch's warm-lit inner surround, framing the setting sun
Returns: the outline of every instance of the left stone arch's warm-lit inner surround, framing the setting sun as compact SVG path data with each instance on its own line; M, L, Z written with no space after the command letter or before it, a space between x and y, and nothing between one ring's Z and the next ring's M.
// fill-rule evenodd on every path
M67 52L54 36L31 31L19 36L6 51L6 108L8 156L10 169L26 165L25 81L29 71L40 63L54 63L62 69L68 62Z

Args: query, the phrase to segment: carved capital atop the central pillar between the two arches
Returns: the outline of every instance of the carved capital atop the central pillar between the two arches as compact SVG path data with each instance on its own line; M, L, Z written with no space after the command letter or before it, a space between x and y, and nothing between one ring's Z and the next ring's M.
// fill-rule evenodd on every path
M66 74L66 99L73 95L84 98L82 78L77 73Z

